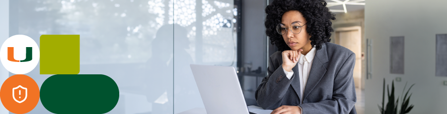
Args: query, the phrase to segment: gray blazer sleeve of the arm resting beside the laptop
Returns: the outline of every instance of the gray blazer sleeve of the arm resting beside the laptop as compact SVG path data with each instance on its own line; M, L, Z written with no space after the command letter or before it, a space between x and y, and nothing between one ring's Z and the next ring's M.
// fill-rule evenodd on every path
M300 104L302 114L349 114L357 101L353 79L355 62L353 53L335 75L332 100Z

